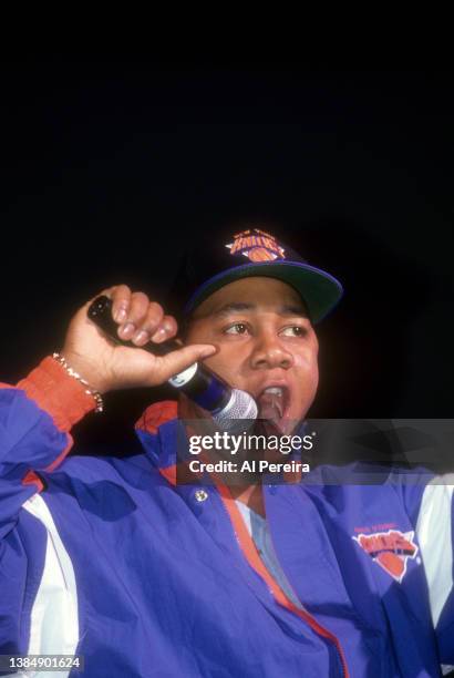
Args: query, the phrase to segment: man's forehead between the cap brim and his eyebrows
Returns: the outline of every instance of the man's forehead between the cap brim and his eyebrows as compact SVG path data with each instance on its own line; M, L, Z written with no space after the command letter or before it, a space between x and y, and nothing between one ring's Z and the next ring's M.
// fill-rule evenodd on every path
M287 282L276 278L254 276L235 280L210 295L194 311L194 318L204 318L228 309L244 306L256 310L281 309L306 315L306 305L300 295Z

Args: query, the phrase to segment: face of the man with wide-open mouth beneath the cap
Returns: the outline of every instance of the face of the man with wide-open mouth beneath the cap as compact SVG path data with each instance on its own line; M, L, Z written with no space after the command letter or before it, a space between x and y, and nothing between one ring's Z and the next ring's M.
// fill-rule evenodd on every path
M314 399L318 341L300 296L286 282L251 277L226 285L196 309L186 342L215 345L218 352L205 363L251 393L259 417L272 418L283 433Z

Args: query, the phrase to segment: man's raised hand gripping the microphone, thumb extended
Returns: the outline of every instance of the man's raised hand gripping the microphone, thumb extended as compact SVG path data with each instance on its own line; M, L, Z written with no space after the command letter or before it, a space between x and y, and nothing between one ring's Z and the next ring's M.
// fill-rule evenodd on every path
M113 301L112 317L118 326L118 338L137 348L117 346L92 322L86 312L100 295ZM166 356L141 350L148 341L161 343L177 333L177 322L144 292L132 292L126 285L103 290L87 301L71 320L62 355L89 384L105 393L115 389L158 386L193 362L213 356L211 345L192 345Z

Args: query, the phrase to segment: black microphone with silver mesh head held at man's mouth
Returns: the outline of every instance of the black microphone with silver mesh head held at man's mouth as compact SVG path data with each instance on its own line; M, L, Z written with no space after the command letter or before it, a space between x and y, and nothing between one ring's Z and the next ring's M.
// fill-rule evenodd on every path
M132 341L123 341L117 335L117 323L112 318L112 299L97 297L87 310L87 316L115 343L131 348L141 348L155 356L165 356L180 349L175 339L163 343L135 346ZM257 418L257 403L246 391L233 389L224 379L211 372L206 366L194 362L188 368L174 374L168 380L174 388L183 391L192 401L207 410L219 429L228 432L244 431L241 420Z

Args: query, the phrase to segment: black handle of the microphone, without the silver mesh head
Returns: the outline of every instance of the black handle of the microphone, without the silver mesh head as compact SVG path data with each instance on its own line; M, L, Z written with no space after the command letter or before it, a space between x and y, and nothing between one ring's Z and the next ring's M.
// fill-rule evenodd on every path
M135 349L143 349L154 356L166 356L182 348L175 339L168 339L162 343L149 341L145 346L136 346L130 340L120 339L117 335L118 325L112 318L112 299L105 295L97 297L87 310L87 316L106 335L111 341L117 345ZM220 377L211 372L207 367L195 362L183 372L175 374L168 383L186 393L186 396L198 405L216 413L230 400L231 389Z

